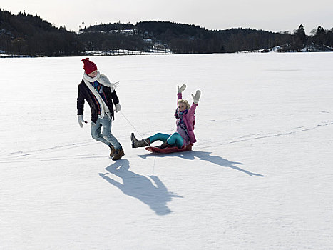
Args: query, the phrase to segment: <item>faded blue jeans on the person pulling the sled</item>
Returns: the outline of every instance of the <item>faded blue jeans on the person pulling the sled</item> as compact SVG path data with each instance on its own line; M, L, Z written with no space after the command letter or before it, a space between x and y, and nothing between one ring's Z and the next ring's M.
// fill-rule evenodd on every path
M114 146L115 149L121 149L121 144L118 142L115 136L111 134L111 123L108 116L104 116L102 119L98 118L96 124L91 122L91 136L97 141L101 141L108 146ZM103 131L101 133L101 129Z

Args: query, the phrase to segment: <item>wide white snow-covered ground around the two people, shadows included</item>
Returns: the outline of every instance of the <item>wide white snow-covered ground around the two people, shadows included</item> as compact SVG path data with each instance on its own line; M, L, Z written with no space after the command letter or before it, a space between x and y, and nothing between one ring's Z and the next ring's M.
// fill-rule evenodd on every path
M333 53L90 57L121 161L78 126L81 59L0 59L1 250L333 249ZM132 149L175 130L184 83L193 151Z

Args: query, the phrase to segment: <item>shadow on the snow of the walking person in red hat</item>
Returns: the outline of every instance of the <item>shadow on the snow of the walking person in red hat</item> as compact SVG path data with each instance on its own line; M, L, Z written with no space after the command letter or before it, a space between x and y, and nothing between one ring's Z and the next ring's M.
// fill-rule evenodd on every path
M150 179L153 180L153 183L146 176L135 174L133 171L129 171L129 169L129 161L122 159L106 167L109 173L99 173L99 175L113 186L121 189L124 194L133 196L150 206L150 209L155 211L155 214L158 215L171 213L167 203L170 202L173 197L183 198L182 196L169 192L162 181L158 179L158 176L149 176ZM123 184L112 179L112 177L108 175L110 173L120 177L123 180Z

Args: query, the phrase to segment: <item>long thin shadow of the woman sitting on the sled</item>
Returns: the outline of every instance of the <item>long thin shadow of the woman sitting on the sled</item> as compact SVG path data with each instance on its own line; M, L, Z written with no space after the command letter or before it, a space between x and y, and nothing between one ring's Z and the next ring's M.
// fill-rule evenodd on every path
M165 156L179 156L181 158L194 160L195 157L200 159L201 161L209 161L213 164L217 164L219 166L224 166L227 168L235 169L237 171L241 171L245 174L248 174L249 176L260 176L264 177L262 174L255 174L250 171L247 171L245 169L241 169L238 166L235 165L242 165L240 162L235 161L228 161L227 159L224 159L220 156L211 156L212 152L205 152L205 151L185 151L185 152L179 152L179 153L173 153L173 154L143 154L139 155L143 159L147 159L148 157L165 157Z

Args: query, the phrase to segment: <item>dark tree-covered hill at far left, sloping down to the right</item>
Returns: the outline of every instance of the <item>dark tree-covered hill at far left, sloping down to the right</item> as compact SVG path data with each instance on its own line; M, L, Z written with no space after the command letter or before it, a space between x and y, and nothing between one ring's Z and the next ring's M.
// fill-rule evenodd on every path
M76 33L56 28L37 15L0 11L0 50L29 56L74 56L83 46Z

